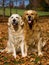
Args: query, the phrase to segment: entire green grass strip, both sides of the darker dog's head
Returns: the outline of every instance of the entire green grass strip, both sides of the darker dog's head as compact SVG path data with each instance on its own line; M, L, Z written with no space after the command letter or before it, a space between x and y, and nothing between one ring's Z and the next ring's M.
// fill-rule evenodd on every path
M18 13L19 15L22 16L24 11L25 11L24 9L12 8L12 14L13 13ZM47 16L47 15L49 15L49 12L44 12L44 11L37 11L37 13L38 13L39 16ZM0 8L0 15L3 15L3 8ZM10 16L10 8L5 8L5 15Z

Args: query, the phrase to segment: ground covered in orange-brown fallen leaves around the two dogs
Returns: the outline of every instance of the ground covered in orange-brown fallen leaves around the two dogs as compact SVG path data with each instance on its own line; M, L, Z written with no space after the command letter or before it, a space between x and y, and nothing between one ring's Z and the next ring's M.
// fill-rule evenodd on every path
M49 17L40 18L39 25L49 38ZM0 22L0 49L6 47L8 40L8 26L6 22ZM17 53L14 59L12 54L0 52L0 65L49 65L49 40L43 48L43 56L38 57L36 52L28 52L28 56L22 58L21 53Z

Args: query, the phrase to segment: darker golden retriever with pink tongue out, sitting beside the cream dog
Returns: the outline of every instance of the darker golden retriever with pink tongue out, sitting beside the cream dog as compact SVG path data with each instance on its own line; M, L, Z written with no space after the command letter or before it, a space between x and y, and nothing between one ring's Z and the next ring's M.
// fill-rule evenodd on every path
M24 21L24 35L26 45L32 46L37 45L38 56L42 54L42 47L46 44L46 41L43 41L41 37L40 28L37 28L38 23L38 14L34 10L27 10L24 12L22 19ZM35 24L36 22L36 24Z

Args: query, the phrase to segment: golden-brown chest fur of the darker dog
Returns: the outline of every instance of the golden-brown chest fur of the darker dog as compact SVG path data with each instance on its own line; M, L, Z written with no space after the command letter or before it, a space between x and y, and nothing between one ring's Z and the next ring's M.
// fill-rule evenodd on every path
M28 45L33 45L34 41L36 41L38 39L38 30L34 31L34 25L32 25L32 29L29 28L29 25L24 26L24 30L25 30L25 40L27 42Z

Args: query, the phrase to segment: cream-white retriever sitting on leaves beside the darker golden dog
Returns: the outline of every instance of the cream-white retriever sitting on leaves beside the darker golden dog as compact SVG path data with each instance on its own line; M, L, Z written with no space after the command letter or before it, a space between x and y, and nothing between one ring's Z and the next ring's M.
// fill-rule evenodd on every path
M12 53L14 58L16 58L17 48L21 48L22 57L27 56L25 50L25 41L23 33L22 18L18 14L12 14L8 20L8 43L7 47L1 52L6 51L7 53Z

